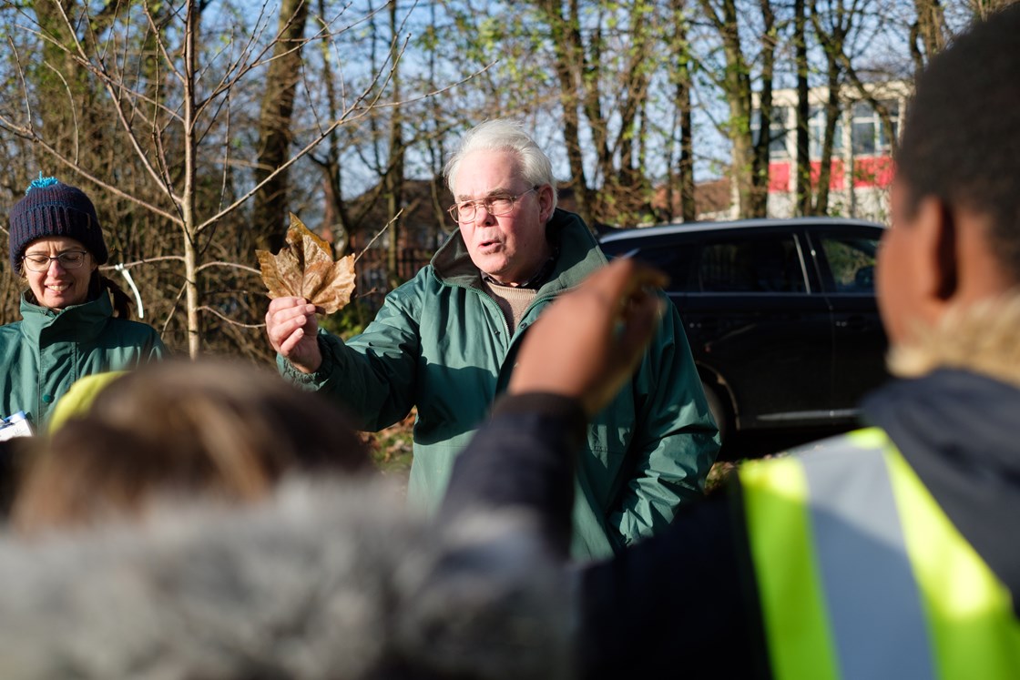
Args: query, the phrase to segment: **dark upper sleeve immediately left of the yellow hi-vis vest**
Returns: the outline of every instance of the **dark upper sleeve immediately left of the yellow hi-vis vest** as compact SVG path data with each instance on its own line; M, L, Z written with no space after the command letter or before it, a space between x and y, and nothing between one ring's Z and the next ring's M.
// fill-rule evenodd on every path
M578 571L579 678L771 677L738 489Z

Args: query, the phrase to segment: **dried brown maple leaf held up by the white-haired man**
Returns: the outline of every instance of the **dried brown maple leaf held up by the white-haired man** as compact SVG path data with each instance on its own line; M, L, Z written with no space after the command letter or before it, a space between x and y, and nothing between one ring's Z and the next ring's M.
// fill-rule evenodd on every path
M270 298L304 298L325 314L351 302L354 256L334 261L329 244L308 230L294 213L287 230L287 246L275 255L264 250L255 251L255 255Z

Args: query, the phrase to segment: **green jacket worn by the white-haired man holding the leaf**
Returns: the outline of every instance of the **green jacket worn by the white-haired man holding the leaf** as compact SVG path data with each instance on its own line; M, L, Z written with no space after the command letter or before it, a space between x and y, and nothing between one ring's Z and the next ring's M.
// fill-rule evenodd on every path
M319 335L322 365L304 375L283 358L290 379L328 394L361 427L377 430L417 407L408 495L431 511L453 461L507 385L523 334L558 295L606 263L579 217L557 210L548 226L559 257L511 334L480 286L459 232L431 263L393 291L365 331L346 344ZM667 305L661 327L629 388L589 428L577 472L577 558L606 557L666 527L677 506L702 494L718 451L679 315Z

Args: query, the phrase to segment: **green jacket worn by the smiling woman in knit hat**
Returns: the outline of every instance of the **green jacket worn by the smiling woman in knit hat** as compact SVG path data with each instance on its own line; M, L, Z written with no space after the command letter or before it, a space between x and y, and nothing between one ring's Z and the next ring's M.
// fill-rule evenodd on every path
M21 295L21 320L0 326L0 416L24 411L45 429L56 402L80 377L135 368L161 359L166 348L146 323L113 317L105 292L53 311Z

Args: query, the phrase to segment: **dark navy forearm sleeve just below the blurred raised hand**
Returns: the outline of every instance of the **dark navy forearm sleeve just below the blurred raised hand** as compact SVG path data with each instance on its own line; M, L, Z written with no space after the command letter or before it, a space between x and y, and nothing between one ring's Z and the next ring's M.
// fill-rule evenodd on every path
M574 459L584 440L580 405L556 395L500 399L454 463L440 521L481 508L531 513L555 554L565 557L573 509Z

